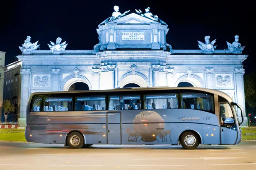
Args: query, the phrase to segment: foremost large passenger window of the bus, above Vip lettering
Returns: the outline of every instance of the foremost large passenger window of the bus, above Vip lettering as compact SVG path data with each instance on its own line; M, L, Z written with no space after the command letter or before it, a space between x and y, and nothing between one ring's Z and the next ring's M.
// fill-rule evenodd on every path
M214 113L213 95L206 93L184 92L181 93L181 108L197 109Z

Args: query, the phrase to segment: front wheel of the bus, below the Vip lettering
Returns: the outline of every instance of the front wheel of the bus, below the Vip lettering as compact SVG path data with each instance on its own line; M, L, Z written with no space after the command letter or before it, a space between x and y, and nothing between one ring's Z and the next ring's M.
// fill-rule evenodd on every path
M196 149L199 145L199 140L195 133L184 132L180 138L180 143L184 149Z

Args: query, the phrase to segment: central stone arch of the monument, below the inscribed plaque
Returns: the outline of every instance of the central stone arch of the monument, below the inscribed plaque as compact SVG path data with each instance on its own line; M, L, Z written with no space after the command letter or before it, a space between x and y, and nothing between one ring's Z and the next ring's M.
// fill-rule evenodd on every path
M135 74L132 72L127 72L126 74L122 75L117 83L117 87L122 88L128 83L135 83L140 87L149 87L148 78L140 72L135 72Z

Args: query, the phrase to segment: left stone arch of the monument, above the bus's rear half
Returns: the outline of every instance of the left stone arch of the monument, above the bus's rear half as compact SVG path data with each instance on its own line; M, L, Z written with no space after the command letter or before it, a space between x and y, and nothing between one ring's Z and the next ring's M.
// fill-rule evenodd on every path
M68 91L69 87L72 84L77 83L77 82L85 83L88 85L89 90L92 89L92 85L91 85L90 81L84 75L78 74L77 77L75 77L75 74L71 74L62 80L61 90Z

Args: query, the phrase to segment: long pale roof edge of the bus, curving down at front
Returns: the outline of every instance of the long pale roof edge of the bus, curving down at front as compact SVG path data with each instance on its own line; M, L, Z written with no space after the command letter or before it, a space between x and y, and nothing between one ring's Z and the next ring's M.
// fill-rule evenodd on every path
M225 98L226 100L228 100L228 102L232 102L232 98L227 95L224 92L221 92L219 90L214 90L214 89L206 89L206 88L201 88L201 87L131 87L131 88L116 88L116 89L111 89L111 90L78 90L78 91L68 91L69 93L84 93L84 92L88 92L88 93L92 93L92 92L112 92L112 91L117 91L117 92L123 92L123 91L140 91L140 90L182 90L182 89L186 89L186 90L199 90L199 91L203 91L203 92L208 92L208 93L213 93L219 96L222 96L223 98ZM35 94L53 94L53 93L67 93L67 91L59 91L59 92L35 92L32 93L31 95L35 95Z

